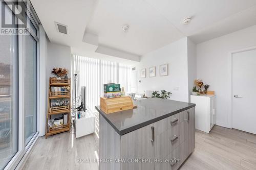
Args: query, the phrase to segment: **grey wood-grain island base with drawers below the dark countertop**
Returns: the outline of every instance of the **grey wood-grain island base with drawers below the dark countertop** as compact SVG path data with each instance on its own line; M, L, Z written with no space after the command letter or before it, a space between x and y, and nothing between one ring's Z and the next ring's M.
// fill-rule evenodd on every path
M101 170L178 169L195 149L195 107L124 135L117 134L100 115L100 129L100 157L125 160L100 163ZM150 162L131 162L142 159ZM162 159L180 162L163 163Z

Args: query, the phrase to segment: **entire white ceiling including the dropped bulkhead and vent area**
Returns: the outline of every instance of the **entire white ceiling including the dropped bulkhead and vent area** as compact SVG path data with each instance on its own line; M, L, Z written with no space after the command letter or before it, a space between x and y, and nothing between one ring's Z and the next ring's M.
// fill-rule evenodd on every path
M96 58L139 56L185 36L200 43L256 25L256 0L31 0L51 42ZM188 25L182 20L193 17ZM68 26L56 31L54 21ZM123 25L129 25L127 33ZM112 57L111 57L112 56ZM114 57L113 57L114 56Z

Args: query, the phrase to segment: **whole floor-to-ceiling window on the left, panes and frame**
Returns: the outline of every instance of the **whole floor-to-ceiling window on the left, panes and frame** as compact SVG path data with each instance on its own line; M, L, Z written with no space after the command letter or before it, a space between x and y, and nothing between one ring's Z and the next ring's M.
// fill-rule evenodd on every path
M0 2L2 21L8 26L12 24L6 27L10 30L23 29L28 33L21 34L19 30L18 34L0 35L0 169L14 169L38 134L38 26L35 20L31 21L31 15L25 16L27 28L17 25L23 21L12 11L12 3L15 2ZM22 10L29 14L26 7Z

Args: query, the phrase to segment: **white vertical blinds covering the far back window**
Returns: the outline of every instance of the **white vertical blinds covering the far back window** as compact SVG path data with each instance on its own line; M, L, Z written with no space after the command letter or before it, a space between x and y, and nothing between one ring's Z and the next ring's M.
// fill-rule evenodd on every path
M86 86L86 106L92 112L103 96L103 84L116 83L130 91L131 69L129 65L72 55L72 74L78 73L76 96L80 96L81 86ZM74 78L73 78L74 92ZM73 93L74 98L74 93Z

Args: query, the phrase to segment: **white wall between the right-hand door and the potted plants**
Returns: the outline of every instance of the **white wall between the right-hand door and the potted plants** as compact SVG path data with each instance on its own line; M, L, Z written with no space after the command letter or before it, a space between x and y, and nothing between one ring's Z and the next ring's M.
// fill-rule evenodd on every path
M197 78L216 92L217 125L232 128L229 53L255 45L256 26L197 44Z

